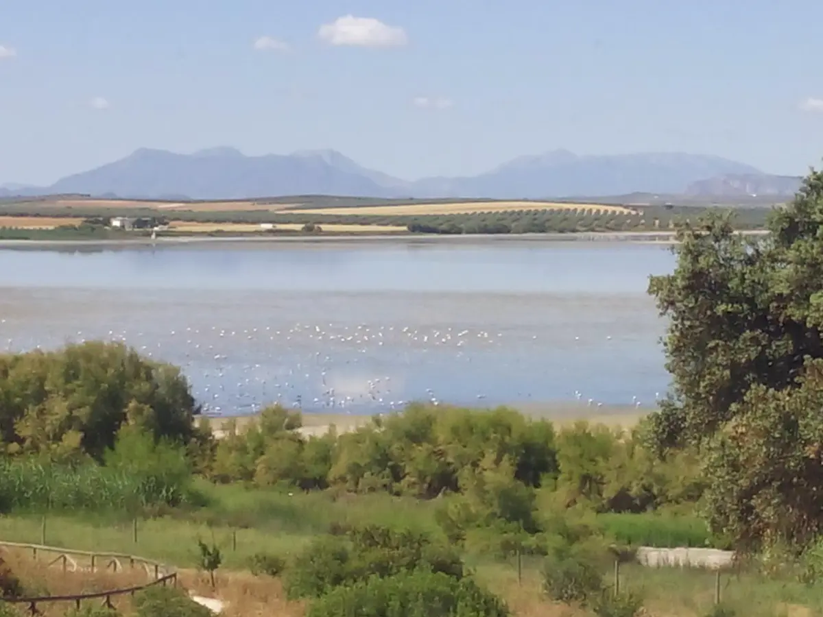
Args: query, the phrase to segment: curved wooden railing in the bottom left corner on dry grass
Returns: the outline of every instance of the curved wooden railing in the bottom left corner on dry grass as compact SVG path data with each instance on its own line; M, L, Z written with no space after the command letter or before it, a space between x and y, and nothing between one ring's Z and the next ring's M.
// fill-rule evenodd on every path
M93 593L79 593L70 596L30 596L17 598L2 598L2 601L9 604L23 604L28 605L31 615L39 615L40 610L37 606L52 602L74 602L77 609L81 607L83 601L102 600L105 606L112 606L111 599L115 596L125 596L127 594L134 595L136 591L142 591L154 585L168 584L177 586L177 570L171 566L161 564L159 561L153 559L146 559L145 557L138 557L137 555L124 553L101 553L98 551L89 550L72 550L61 549L56 546L46 546L39 544L24 544L21 542L4 542L0 540L0 547L7 547L10 549L30 550L32 559L39 559L40 555L49 555L49 562L47 567L60 565L63 572L69 571L71 566L72 572L77 572L85 568L80 568L77 565L77 557L88 558L91 561L89 567L90 572L100 571L102 569L110 570L112 572L122 571L123 564L128 563L128 567L134 569L142 567L146 570L146 575L150 579L142 584L133 587L119 587L117 589L109 589L107 591L95 591ZM51 557L56 555L53 559ZM102 568L101 568L102 567Z

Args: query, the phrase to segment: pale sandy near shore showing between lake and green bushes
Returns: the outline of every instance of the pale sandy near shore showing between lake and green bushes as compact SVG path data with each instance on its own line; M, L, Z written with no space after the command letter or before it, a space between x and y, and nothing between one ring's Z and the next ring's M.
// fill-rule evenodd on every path
M612 428L630 428L635 426L648 415L653 408L635 406L602 406L588 407L579 402L560 403L530 403L528 405L513 405L514 409L522 411L533 418L551 420L557 426L570 426L584 420L590 424L605 424ZM209 417L212 432L216 438L225 436L226 425L235 420L240 430L257 421L257 415L237 415ZM305 437L327 434L334 427L338 433L349 433L371 422L371 415L353 414L303 414L303 427L300 434Z

